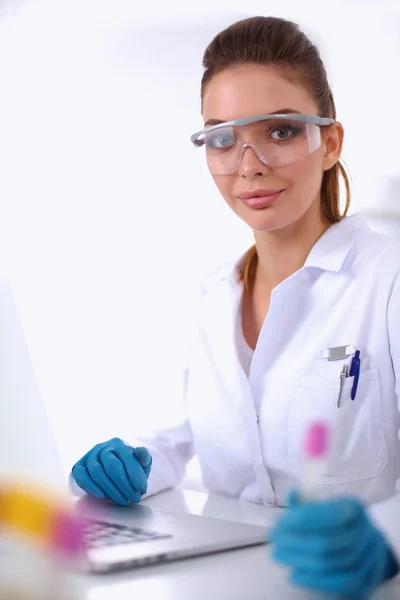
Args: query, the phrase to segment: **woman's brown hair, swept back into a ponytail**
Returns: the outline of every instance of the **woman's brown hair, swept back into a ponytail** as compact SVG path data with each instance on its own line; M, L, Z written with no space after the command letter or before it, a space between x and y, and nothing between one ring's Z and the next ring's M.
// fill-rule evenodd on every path
M201 97L214 75L246 63L273 66L288 79L300 81L314 98L319 116L336 119L335 102L318 48L296 23L276 17L251 17L221 31L204 52ZM340 213L340 177L346 190L343 214ZM324 172L321 205L323 215L330 223L340 221L347 214L350 183L341 161ZM254 280L257 260L256 247L252 246L240 273L246 288Z

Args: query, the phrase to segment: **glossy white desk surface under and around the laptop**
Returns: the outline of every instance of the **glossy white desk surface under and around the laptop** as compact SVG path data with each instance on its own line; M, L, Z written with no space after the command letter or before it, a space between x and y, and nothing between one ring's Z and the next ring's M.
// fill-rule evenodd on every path
M169 512L189 512L253 524L271 523L277 508L239 502L188 490L172 490L148 498L145 504ZM115 575L80 580L82 600L307 600L324 598L287 583L286 571L274 563L268 547L258 546L205 557L145 567ZM400 584L387 584L374 600L400 599Z

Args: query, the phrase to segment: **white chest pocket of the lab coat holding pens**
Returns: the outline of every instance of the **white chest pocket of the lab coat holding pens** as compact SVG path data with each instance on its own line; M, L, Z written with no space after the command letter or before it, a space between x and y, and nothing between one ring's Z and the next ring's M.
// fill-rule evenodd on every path
M291 470L301 477L304 434L310 422L324 420L331 427L328 465L321 484L350 483L375 477L388 457L383 431L379 377L376 369L360 373L357 395L351 400L353 377L343 387L337 407L339 378L315 381L302 378L289 404L287 445Z

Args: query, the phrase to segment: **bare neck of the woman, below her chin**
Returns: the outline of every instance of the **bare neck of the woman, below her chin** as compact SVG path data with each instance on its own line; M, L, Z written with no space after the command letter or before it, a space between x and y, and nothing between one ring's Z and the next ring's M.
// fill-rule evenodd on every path
M255 284L272 291L293 275L329 226L321 214L304 215L284 229L254 232L258 254Z

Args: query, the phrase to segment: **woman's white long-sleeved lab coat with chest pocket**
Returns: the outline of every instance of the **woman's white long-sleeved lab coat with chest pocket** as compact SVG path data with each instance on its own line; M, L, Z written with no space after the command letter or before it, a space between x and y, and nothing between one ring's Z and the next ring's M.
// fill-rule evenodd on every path
M237 266L223 266L202 287L186 419L129 440L153 456L148 494L176 485L196 453L210 491L285 506L301 477L304 428L327 419L332 445L318 495L368 503L400 558L400 243L372 232L361 215L331 226L272 291L249 378L235 346ZM328 362L319 352L345 345L360 350L361 374L356 399L348 378L337 408L351 357Z

